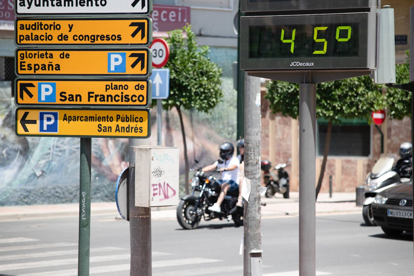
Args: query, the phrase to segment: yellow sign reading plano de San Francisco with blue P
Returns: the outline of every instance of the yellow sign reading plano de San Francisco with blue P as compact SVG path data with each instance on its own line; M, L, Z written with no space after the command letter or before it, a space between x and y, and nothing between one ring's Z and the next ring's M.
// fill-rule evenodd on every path
M17 106L116 106L147 108L151 80L20 79L15 81Z

